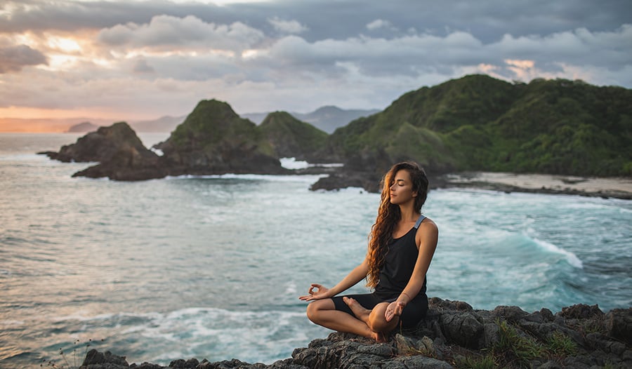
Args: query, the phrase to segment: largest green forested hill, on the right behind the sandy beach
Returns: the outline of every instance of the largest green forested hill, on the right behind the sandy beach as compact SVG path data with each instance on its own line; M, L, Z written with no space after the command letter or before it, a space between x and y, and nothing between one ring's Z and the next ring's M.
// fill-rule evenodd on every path
M353 169L404 159L433 173L632 175L632 90L582 81L465 76L402 95L338 128L329 151Z

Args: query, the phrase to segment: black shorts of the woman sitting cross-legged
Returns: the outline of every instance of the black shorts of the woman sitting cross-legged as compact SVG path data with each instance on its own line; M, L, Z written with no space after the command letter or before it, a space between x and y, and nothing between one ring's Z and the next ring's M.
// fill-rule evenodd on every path
M381 302L393 302L397 300L397 297L384 300L380 297L377 297L375 293L362 293L356 295L343 295L332 297L331 300L334 300L334 305L336 305L336 310L344 311L347 314L353 314L350 307L343 301L343 297L351 297L357 302L359 302L366 309L373 309L377 304ZM400 316L400 327L402 330L414 330L417 324L426 317L426 313L428 312L428 296L425 293L420 293L416 295L414 299L410 300L408 304L404 307L402 311L402 316Z

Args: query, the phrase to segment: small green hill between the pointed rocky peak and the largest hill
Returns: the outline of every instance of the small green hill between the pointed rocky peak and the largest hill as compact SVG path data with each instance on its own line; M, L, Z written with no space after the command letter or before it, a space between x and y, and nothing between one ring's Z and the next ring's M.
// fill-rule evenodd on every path
M274 112L257 127L268 139L277 157L294 157L313 161L327 141L327 133L309 123L299 121L287 112Z

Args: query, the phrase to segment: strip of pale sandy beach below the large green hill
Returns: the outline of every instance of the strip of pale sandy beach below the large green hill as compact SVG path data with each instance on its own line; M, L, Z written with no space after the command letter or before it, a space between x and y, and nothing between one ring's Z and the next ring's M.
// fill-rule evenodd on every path
M578 194L632 199L630 177L577 177L572 175L468 172L445 176L442 187L473 187L504 192Z

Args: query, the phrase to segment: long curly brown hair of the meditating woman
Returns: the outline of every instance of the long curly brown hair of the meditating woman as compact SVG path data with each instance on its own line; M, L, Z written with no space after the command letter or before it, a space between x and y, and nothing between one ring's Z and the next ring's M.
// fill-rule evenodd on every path
M378 215L375 224L371 227L369 235L369 251L367 260L369 262L369 272L367 274L367 286L375 288L379 282L380 269L384 264L384 258L388 252L388 243L393 240L395 225L402 217L400 206L390 203L389 187L395 181L395 174L400 170L407 170L412 181L413 192L416 192L414 209L421 213L421 206L426 203L428 197L428 177L426 172L412 161L397 163L388 170L381 181L381 200L378 208Z

